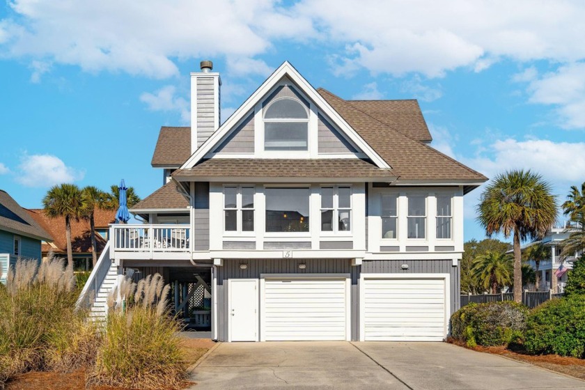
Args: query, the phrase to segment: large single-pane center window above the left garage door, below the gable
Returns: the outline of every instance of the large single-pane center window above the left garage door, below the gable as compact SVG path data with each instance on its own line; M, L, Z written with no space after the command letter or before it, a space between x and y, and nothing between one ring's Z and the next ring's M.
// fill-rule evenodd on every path
M309 231L309 188L268 187L265 194L267 232Z

